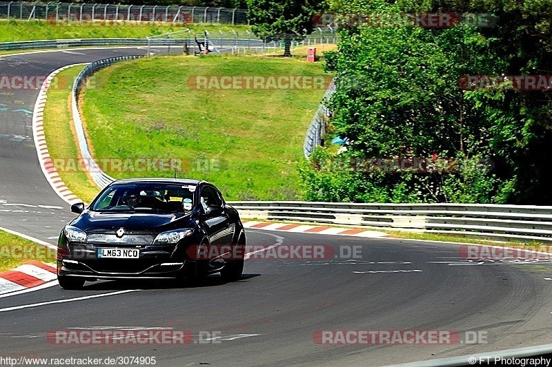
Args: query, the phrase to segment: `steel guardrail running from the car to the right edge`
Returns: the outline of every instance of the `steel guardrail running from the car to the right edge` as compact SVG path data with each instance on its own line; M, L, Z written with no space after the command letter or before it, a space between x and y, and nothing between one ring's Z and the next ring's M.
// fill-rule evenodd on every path
M552 242L552 207L482 204L230 202L242 218L345 224L495 240Z

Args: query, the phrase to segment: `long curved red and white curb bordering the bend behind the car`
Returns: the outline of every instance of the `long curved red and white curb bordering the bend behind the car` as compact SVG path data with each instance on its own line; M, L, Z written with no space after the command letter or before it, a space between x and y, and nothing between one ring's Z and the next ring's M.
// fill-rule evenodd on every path
M42 172L57 195L69 204L75 204L75 202L81 202L81 200L79 200L79 198L77 198L77 196L66 187L59 177L59 174L57 174L52 158L50 158L50 153L48 152L48 146L46 145L46 137L44 136L43 127L43 114L44 106L46 105L46 92L48 92L48 88L50 87L50 83L52 83L54 76L61 72L61 70L77 65L86 65L86 63L60 67L58 70L55 70L48 75L48 78L46 78L44 83L42 83L37 103L34 104L34 111L32 112L32 135L34 137L34 147L37 149Z

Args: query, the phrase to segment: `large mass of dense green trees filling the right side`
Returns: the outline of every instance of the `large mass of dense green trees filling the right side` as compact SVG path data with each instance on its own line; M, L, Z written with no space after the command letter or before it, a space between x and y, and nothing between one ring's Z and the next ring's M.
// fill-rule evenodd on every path
M319 169L300 172L311 200L445 201L551 205L551 92L506 87L462 90L464 75L552 73L551 0L330 0L344 14L485 12L492 27L344 28L337 52L332 123L347 151L326 160L455 158L457 171L396 174ZM328 158L329 156L329 158ZM477 162L493 162L482 169ZM490 160L490 161L489 161ZM358 165L356 165L358 166ZM408 194L408 195L405 195Z

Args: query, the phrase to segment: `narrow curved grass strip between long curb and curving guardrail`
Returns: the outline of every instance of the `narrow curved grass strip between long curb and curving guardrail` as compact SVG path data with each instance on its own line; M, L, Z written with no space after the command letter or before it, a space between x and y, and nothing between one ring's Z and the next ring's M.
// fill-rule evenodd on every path
M43 124L46 144L57 173L76 196L90 202L99 189L79 163L79 149L71 114L71 87L86 65L59 72L47 92Z

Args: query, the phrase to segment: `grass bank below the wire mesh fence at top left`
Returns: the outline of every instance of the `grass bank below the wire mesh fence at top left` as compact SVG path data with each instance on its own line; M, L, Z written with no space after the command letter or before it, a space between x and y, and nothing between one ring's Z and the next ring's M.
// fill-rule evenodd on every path
M0 42L35 41L41 39L80 39L80 38L146 38L167 32L177 32L190 28L198 34L204 30L215 34L231 32L244 33L250 30L247 25L193 24L186 27L178 25L110 24L91 25L90 23L54 24L47 21L0 20Z

